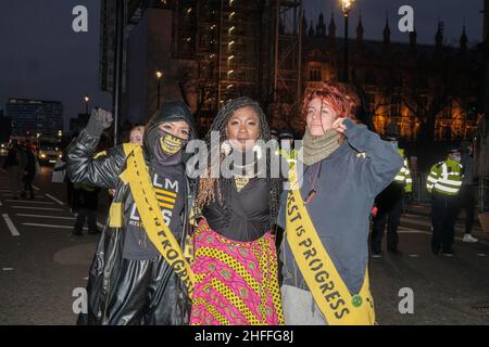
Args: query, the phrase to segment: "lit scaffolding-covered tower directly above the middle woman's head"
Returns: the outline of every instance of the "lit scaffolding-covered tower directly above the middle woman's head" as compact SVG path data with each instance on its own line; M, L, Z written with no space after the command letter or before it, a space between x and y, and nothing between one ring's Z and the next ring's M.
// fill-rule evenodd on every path
M228 100L241 95L260 99L265 2L174 2L174 57L198 62L201 113L215 114Z

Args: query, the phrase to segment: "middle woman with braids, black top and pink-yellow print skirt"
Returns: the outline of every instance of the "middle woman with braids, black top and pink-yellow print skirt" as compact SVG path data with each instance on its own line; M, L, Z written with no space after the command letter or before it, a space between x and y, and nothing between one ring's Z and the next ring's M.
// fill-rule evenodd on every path
M213 131L218 147L211 141ZM199 178L201 219L193 233L196 286L190 324L284 324L275 235L271 233L280 181L271 178L269 158L265 159L266 175L256 168L261 157L256 141L269 139L263 111L248 98L230 101L211 126L209 156L214 152L218 160L208 165L209 175ZM212 167L221 168L233 155L251 160L234 162L233 175L212 175Z

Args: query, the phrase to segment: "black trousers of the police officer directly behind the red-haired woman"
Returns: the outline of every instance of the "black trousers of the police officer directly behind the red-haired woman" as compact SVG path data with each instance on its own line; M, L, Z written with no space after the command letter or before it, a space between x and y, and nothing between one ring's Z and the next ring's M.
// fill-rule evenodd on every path
M398 227L402 215L402 194L391 197L388 202L377 204L377 216L374 218L372 230L372 252L379 253L383 245L384 231L387 223L387 249L397 250L399 236Z

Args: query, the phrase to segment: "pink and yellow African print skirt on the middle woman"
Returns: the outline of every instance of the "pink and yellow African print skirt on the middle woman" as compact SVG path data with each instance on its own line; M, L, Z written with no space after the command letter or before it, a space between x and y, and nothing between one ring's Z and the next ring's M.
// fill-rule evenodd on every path
M202 219L193 236L197 281L190 324L284 324L274 235L230 241Z

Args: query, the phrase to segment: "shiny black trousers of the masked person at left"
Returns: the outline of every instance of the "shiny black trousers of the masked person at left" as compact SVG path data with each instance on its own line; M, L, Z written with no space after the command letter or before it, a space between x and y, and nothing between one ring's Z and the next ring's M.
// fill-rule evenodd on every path
M189 306L179 285L178 275L162 256L150 260L122 259L102 323L183 325Z

